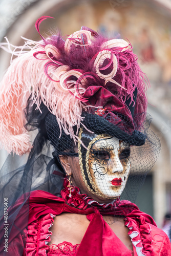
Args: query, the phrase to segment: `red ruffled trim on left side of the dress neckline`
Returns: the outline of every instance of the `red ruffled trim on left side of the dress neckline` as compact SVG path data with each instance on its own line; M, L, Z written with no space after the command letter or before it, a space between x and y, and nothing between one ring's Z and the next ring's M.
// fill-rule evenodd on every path
M49 228L53 225L55 215L48 214L38 218L28 225L28 238L26 244L27 256L46 256L49 246L50 236L52 234Z

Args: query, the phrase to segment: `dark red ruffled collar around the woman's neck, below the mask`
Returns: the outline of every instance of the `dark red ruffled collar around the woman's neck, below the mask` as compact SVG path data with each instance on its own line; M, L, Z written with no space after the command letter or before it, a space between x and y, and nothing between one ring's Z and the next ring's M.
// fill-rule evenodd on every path
M69 205L79 209L87 209L88 207L92 207L98 209L101 214L104 212L110 214L111 210L117 208L117 206L120 204L119 198L113 200L110 203L98 203L91 197L88 197L86 194L81 194L78 187L72 186L70 194L69 180L67 178L64 179L63 189L61 190L60 194L61 197L65 199Z

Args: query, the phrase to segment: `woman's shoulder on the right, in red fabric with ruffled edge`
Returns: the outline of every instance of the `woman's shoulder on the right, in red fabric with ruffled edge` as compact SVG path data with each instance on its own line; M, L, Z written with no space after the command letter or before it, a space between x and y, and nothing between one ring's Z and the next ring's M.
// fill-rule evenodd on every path
M171 256L170 241L151 216L135 208L126 216L125 225L130 229L129 234L134 239L133 244L137 242L135 246L142 247L142 250L148 251L151 256ZM135 236L136 232L137 236Z

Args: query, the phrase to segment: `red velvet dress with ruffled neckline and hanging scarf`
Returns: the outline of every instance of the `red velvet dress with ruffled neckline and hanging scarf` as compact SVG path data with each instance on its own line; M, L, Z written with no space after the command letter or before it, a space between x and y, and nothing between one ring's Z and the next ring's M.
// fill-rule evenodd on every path
M166 234L156 227L154 220L141 212L129 201L119 201L115 205L115 214L125 214L125 225L130 229L129 236L133 243L133 252L120 241L110 226L103 220L98 209L87 204L75 194L69 198L66 191L63 198L58 198L45 191L33 191L30 196L30 215L28 238L25 252L27 256L168 256L171 246ZM70 203L69 205L67 203ZM70 201L70 202L69 202ZM77 207L77 208L76 208ZM78 208L79 207L79 208ZM48 246L52 232L49 231L53 218L62 212L86 214L90 224L80 245L66 241L59 245Z

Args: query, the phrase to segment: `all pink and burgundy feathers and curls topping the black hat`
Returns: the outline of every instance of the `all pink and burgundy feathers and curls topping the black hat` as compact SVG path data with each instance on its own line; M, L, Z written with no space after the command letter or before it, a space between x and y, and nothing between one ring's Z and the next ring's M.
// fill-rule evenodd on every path
M35 27L39 34L40 23L48 17L37 20ZM60 131L75 141L73 127L79 129L84 119L82 111L89 112L91 108L103 108L109 113L122 109L120 113L132 120L132 129L135 126L138 129L143 120L133 122L125 101L130 98L134 114L145 112L146 82L129 42L109 40L87 27L66 41L59 34L48 38L40 36L41 41L30 40L20 51L11 51L17 57L0 85L1 147L18 155L31 150L23 116L30 95L37 109L43 102L56 116Z

